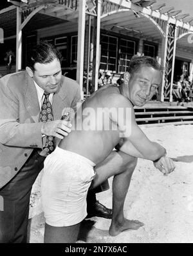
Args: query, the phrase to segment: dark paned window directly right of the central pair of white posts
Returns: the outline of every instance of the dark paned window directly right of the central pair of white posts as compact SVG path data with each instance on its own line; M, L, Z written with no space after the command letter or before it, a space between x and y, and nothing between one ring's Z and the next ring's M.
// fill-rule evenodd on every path
M100 69L116 72L118 38L102 34L100 43Z

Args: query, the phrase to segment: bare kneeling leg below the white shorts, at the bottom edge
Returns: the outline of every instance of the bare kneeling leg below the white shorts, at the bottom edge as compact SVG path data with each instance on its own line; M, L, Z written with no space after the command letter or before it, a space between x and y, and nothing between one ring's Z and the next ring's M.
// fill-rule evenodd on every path
M55 227L46 223L44 243L72 243L77 242L80 223L73 226Z

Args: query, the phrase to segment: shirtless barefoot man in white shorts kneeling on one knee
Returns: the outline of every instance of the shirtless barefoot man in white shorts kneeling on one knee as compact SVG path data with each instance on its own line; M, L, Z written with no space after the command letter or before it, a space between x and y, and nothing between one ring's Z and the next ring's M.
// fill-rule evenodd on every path
M134 168L115 171L126 156L136 166L137 157L154 162L165 175L174 170L160 144L149 141L134 117L133 106L143 106L161 82L161 67L151 57L133 57L124 83L108 85L91 95L77 110L72 131L44 162L42 205L46 217L44 242L77 241L80 222L86 217L86 193L114 175L113 218L109 234L137 230L142 222L124 218L124 201ZM104 110L104 115L101 111ZM118 151L113 151L116 145ZM125 155L123 155L123 152ZM101 172L95 165L107 162ZM131 166L130 166L131 167Z

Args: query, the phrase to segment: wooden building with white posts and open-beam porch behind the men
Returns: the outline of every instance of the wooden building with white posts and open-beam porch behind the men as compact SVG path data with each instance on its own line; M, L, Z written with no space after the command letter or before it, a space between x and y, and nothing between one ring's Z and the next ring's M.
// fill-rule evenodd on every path
M134 54L156 57L167 67L161 101L172 101L176 75L192 79L193 17L181 10L145 0L18 0L8 5L0 10L0 73L6 72L6 51L15 52L15 72L25 68L28 50L47 40L61 51L62 74L78 81L82 97L84 84L86 94L89 83L98 88L100 70L116 80Z

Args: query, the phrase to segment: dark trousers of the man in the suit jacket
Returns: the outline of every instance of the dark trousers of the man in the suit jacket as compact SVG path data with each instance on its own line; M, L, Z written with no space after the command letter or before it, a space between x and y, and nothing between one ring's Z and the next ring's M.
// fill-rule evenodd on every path
M45 157L33 150L15 177L0 190L3 211L0 211L0 243L24 243L27 239L30 193Z

